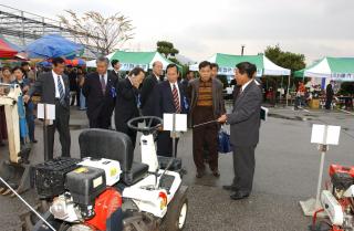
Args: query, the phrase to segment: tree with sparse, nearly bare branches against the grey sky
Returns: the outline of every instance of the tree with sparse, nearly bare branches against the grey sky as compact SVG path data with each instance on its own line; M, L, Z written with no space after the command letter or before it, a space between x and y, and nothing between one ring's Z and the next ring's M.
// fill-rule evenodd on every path
M72 10L65 10L67 15L59 15L61 23L71 31L83 44L95 46L97 52L108 54L133 39L132 20L118 13L104 18L95 11L77 15Z

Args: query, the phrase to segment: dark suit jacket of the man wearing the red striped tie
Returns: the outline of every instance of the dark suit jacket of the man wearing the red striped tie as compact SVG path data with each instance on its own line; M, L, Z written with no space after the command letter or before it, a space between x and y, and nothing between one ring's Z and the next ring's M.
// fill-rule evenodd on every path
M186 94L183 90L180 83L178 84L179 88L179 104L180 104L180 113L187 114L189 109L189 105L187 103ZM156 85L154 90L154 115L163 118L164 113L176 113L176 106L174 102L173 90L168 81L160 82Z

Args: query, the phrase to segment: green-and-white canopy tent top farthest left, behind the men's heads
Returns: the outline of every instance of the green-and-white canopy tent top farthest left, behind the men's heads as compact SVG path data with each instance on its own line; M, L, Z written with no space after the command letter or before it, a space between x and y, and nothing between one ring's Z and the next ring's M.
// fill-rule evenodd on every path
M119 60L119 63L122 64L121 71L131 71L135 66L139 66L144 69L144 71L147 71L153 69L153 63L155 61L160 61L164 69L166 69L168 64L173 63L158 52L116 51L108 54L106 57L108 57L110 61ZM96 67L96 60L88 61L86 66Z

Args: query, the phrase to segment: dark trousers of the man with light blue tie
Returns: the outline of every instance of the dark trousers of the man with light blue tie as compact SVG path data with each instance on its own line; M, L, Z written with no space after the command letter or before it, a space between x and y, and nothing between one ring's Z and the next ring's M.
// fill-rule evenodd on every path
M53 125L48 126L48 150L49 159L53 159L54 134L59 133L60 144L62 146L62 156L70 157L70 128L69 128L70 111L62 106L59 101L55 102L55 120Z

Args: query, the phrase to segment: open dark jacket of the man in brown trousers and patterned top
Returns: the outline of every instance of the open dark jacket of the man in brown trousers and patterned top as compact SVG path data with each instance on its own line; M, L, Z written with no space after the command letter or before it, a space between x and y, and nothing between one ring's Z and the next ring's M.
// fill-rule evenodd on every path
M212 78L212 109L214 116L217 119L226 113L222 90L223 85L219 80ZM192 115L199 96L200 78L195 78L189 82L188 95L190 98L190 114ZM191 116L192 117L192 116Z

